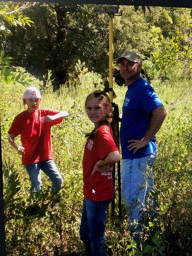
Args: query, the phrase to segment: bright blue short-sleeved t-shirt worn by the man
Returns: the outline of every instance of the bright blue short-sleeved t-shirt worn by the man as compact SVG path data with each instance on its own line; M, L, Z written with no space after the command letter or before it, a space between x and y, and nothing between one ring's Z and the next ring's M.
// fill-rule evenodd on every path
M135 154L128 150L131 139L141 139L145 136L152 118L152 111L163 106L154 88L143 78L139 78L128 86L122 108L120 129L121 153L123 159L145 157L156 151L156 137L148 145L140 148Z

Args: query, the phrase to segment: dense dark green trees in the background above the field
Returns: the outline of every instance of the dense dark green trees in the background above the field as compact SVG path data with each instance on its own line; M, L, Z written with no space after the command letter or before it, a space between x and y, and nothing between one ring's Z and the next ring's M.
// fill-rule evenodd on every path
M90 71L108 76L110 16L101 13L100 5L34 3L17 15L2 15L17 7L15 3L0 6L0 24L5 27L1 49L13 57L14 66L45 80L51 70L55 88L66 83L68 73L74 73L78 59ZM145 59L144 71L150 79L166 79L176 66L179 75L175 76L189 77L189 9L151 7L145 15L142 8L137 12L133 6L120 9L123 15L113 19L115 59L124 50L134 49ZM118 73L115 76L119 81Z

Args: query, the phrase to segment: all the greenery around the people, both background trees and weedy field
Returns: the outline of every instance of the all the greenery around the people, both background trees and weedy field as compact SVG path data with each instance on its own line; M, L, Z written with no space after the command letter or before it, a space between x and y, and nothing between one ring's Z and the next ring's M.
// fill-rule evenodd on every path
M82 153L84 134L92 128L84 113L84 99L92 90L104 89L102 78L108 76L109 17L91 5L27 3L20 7L14 2L0 3L7 255L84 255L79 236ZM109 214L106 229L109 255L192 255L190 12L150 8L151 13L144 15L141 8L137 13L133 7L121 9L123 15L114 19L114 56L127 48L140 52L145 59L143 76L161 97L168 117L157 136L156 215L150 218L146 213L143 239L134 243L122 202L119 220L116 180L115 215ZM115 81L122 85L117 70ZM121 112L126 87L117 83L114 101ZM50 194L50 181L43 176L43 190L36 201L29 197L27 172L20 155L8 145L7 133L15 115L24 110L22 93L29 85L40 88L42 108L71 114L52 128L54 160L64 186L58 194Z

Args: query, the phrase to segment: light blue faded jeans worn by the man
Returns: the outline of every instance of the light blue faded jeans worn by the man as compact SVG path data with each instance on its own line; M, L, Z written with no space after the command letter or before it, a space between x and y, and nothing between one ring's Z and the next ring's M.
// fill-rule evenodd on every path
M155 160L156 153L152 153L142 158L122 159L121 162L122 199L128 212L129 228L138 234L142 213L147 208L147 196L154 187L152 166ZM152 199L150 204L154 204Z

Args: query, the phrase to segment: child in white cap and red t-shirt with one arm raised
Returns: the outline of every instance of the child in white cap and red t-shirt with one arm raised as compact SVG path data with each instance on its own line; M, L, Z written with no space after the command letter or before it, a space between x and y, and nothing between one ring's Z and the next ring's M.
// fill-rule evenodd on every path
M22 164L27 169L31 180L31 195L39 192L42 186L42 170L52 181L52 192L61 189L62 178L52 160L51 127L60 124L68 116L66 111L39 109L41 95L36 87L29 87L24 92L23 103L27 110L15 117L8 130L10 145L22 155ZM22 145L15 137L20 135Z

